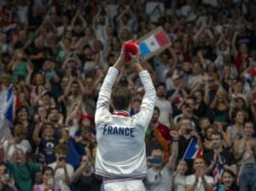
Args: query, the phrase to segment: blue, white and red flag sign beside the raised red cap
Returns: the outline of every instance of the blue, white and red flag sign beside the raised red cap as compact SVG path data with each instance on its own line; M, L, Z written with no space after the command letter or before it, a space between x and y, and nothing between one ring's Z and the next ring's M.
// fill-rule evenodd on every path
M171 44L168 36L161 27L156 28L156 30L139 41L140 53L144 58L150 58L156 55Z

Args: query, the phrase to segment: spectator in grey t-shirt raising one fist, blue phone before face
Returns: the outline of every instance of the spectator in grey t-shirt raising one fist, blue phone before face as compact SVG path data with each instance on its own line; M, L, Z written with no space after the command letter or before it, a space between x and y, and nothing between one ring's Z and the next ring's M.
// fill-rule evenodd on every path
M173 142L171 146L171 156L168 163L163 162L163 151L153 150L152 156L148 157L148 162L151 166L147 171L147 177L145 179L145 187L150 191L165 191L171 190L171 179L174 174L176 166L176 160L178 157L178 141L179 134L176 131L170 132Z

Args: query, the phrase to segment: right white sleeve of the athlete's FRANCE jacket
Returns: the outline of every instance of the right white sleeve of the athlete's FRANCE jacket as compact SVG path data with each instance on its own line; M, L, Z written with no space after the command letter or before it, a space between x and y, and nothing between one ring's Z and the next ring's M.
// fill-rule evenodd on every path
M139 113L135 115L135 118L139 124L147 129L154 112L156 90L147 70L141 71L139 76L145 89L145 95L143 96Z

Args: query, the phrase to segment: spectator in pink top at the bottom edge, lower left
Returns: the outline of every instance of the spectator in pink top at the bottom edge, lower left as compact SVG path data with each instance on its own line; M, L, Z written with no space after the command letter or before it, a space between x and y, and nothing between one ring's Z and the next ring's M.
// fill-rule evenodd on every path
M53 178L53 169L51 167L44 167L43 168L43 177L42 177L42 184L34 185L33 191L45 191L45 190L54 190L60 191L61 188L58 184L55 184Z

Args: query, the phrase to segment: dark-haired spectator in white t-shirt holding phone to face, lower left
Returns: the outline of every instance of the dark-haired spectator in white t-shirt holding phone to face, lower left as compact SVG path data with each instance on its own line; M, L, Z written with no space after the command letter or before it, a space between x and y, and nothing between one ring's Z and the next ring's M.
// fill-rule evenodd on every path
M64 144L59 144L56 146L54 153L56 161L48 166L53 169L55 182L56 184L60 185L61 190L70 191L73 168L70 164L66 163L69 148Z

